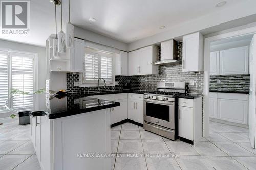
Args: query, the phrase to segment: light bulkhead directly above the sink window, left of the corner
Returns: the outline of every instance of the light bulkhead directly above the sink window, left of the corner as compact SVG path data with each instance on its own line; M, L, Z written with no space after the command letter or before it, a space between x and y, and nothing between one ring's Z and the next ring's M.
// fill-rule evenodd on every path
M75 37L81 38L87 41L95 42L101 45L106 45L112 48L116 48L118 50L127 51L126 43L94 33L86 29L82 29L77 26L75 26Z

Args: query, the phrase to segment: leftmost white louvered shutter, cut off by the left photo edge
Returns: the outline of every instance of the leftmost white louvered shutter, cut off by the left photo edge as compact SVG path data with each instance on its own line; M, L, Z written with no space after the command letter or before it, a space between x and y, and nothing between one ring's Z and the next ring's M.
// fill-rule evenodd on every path
M0 51L0 111L8 100L8 53Z

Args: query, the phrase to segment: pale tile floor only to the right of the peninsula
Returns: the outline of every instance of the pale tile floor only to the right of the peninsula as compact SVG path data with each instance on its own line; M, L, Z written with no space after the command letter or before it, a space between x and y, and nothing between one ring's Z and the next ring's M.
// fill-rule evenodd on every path
M111 128L111 152L142 156L114 157L112 170L256 169L256 151L250 148L247 128L210 122L209 132L209 138L202 138L194 148L180 140L171 141L147 132L131 123L118 125ZM158 157L157 154L165 157ZM178 155L172 157L172 154Z

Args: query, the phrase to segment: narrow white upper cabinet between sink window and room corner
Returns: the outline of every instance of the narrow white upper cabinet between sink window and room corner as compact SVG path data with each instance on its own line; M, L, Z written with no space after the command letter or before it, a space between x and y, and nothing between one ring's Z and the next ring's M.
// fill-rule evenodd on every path
M128 53L120 51L115 58L115 75L128 75Z

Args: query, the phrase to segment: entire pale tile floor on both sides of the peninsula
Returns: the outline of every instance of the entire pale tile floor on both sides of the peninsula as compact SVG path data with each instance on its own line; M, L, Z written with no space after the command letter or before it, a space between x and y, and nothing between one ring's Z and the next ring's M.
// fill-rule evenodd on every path
M20 126L17 119L9 118L0 122L4 123L0 125L0 169L40 169L30 141L30 125ZM256 151L250 148L247 128L210 122L209 131L209 138L202 138L194 148L131 123L113 127L112 153L142 155L113 157L112 170L256 169ZM172 154L177 157L169 157Z

